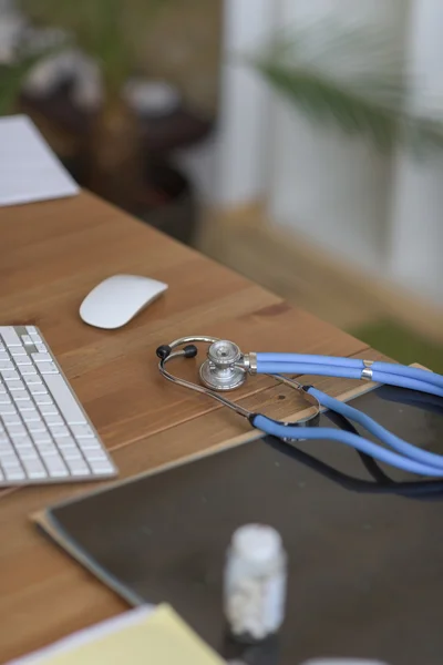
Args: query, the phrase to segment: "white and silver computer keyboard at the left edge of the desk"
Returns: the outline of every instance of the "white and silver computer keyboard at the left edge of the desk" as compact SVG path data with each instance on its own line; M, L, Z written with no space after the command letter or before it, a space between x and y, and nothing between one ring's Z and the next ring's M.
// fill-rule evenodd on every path
M0 326L0 487L116 474L40 330Z

